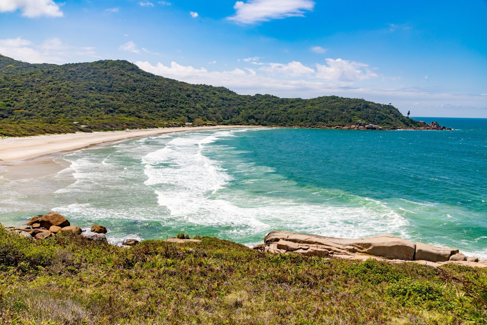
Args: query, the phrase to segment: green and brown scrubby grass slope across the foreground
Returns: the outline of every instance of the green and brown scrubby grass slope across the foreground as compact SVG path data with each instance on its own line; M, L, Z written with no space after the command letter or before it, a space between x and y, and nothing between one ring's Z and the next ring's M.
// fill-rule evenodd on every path
M486 324L486 273L0 227L0 324Z

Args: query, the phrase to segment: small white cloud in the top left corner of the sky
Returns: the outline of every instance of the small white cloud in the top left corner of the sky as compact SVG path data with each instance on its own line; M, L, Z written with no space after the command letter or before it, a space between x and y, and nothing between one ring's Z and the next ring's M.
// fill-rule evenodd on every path
M0 0L0 12L20 10L22 16L35 17L62 17L59 5L53 0Z

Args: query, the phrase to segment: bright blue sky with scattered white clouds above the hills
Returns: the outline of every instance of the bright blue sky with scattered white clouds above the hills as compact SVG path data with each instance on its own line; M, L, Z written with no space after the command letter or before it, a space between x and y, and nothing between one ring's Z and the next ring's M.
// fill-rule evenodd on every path
M0 53L487 118L487 1L0 0Z

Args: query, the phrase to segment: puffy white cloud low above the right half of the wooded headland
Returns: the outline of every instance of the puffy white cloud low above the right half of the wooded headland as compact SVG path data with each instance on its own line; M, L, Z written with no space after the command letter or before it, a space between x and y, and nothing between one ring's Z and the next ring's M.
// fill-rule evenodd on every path
M316 77L334 81L354 81L377 77L377 74L367 68L369 65L361 62L342 59L326 59L328 65L316 64Z

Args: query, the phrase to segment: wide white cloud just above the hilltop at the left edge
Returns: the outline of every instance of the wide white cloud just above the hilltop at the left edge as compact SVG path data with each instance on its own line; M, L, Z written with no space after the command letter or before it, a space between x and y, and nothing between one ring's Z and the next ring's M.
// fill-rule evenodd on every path
M22 39L0 40L0 53L15 60L30 63L66 63L76 61L75 58L99 58L94 47L78 47L63 43L53 38L35 44Z

